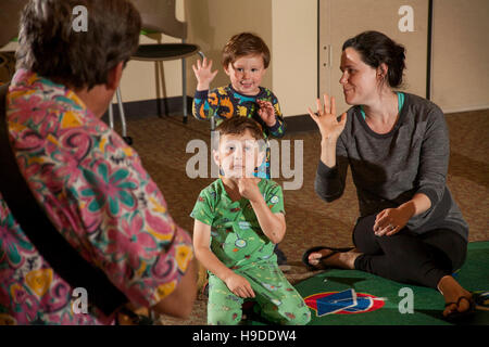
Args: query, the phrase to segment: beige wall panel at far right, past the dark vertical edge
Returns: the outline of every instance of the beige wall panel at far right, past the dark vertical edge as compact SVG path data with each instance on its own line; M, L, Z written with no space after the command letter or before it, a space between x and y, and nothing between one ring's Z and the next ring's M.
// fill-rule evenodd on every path
M435 0L431 99L446 113L489 108L489 1Z

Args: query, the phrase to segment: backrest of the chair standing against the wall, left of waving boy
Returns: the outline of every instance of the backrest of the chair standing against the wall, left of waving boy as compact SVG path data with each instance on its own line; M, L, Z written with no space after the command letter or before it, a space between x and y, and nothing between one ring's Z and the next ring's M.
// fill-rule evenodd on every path
M180 39L187 38L187 23L179 22L175 0L131 0L141 14L142 28Z

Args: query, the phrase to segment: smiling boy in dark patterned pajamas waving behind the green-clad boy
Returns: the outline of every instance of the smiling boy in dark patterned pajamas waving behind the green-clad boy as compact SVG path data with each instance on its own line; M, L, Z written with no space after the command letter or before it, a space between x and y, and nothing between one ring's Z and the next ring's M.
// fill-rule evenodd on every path
M218 126L230 117L248 117L256 120L266 142L265 159L256 168L255 176L271 178L271 151L268 138L281 138L286 126L275 94L261 87L269 65L268 47L259 36L241 33L233 36L223 49L223 68L230 83L210 89L217 70L212 72L212 61L197 61L192 65L197 77L192 114L198 119L214 118ZM278 248L279 265L286 265L287 257Z

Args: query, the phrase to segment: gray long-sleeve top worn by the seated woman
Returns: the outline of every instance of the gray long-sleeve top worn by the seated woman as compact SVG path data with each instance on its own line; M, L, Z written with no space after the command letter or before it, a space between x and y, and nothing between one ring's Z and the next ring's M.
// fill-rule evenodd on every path
M393 129L374 132L360 106L348 111L336 147L337 164L319 160L316 193L326 202L340 197L350 165L361 217L396 208L423 193L431 207L408 222L416 233L446 228L468 239L468 226L447 188L449 132L442 111L432 102L404 93L404 105Z

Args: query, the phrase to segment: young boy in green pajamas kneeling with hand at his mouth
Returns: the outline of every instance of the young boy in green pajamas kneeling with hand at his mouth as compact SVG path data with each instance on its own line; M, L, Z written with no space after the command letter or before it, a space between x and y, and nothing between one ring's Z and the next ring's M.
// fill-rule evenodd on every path
M196 257L209 271L209 324L238 324L254 298L277 324L306 324L311 313L281 273L274 246L286 232L281 188L253 176L265 155L259 125L233 117L217 128L213 153L222 177L200 192L195 218Z

